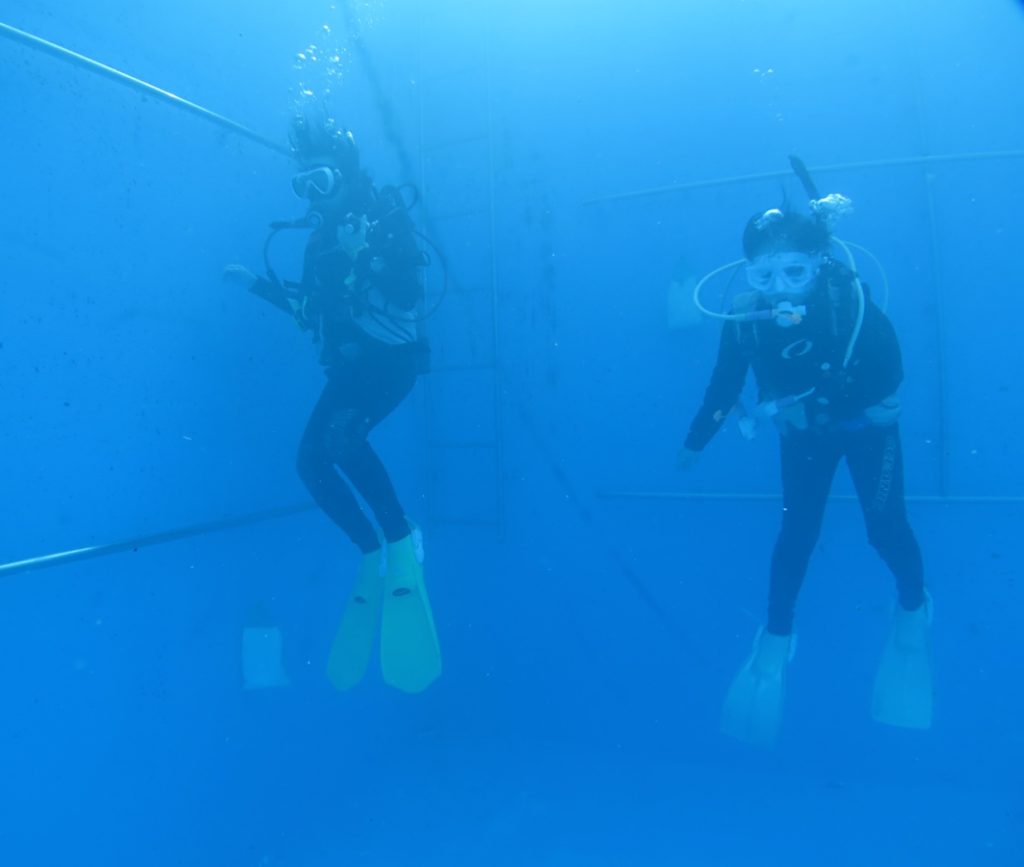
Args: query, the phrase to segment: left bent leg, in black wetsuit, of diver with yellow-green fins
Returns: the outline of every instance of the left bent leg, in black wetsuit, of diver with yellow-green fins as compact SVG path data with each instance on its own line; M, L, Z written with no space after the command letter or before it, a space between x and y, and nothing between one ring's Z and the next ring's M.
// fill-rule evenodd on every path
M332 420L344 410L345 403L344 383L328 380L302 434L296 469L316 505L364 554L369 554L380 548L377 532L338 475L331 456Z

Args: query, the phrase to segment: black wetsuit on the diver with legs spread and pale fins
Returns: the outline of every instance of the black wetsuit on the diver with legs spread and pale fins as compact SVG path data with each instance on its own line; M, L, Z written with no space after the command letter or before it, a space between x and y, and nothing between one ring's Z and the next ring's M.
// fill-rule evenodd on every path
M843 458L868 540L892 570L900 604L913 610L925 601L921 550L906 518L899 428L895 419L874 424L865 415L894 395L903 378L896 333L865 299L860 335L844 367L857 315L849 271L830 263L804 303L806 316L790 327L771 319L725 324L711 384L685 442L694 451L708 444L739 398L751 367L761 405L775 400L783 406L775 417L781 432L782 528L771 561L767 623L776 635L793 630L797 597ZM738 300L734 312L769 307L763 297L750 295Z

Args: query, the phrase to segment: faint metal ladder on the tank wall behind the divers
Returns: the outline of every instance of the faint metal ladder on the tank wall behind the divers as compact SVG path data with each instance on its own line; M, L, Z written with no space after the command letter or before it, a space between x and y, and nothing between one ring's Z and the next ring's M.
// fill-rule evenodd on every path
M482 60L432 60L421 49L418 94L420 191L449 260L447 295L427 323L433 338L432 369L424 379L427 519L490 528L501 538L501 306L486 50ZM453 94L464 97L455 110ZM428 309L442 291L442 269L430 270Z

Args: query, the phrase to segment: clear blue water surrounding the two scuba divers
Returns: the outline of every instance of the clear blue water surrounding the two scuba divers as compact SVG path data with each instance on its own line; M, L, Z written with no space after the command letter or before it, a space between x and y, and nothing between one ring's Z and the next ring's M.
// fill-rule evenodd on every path
M288 161L0 39L0 563L129 543L0 574L0 863L1024 864L1021 4L349 9L0 21L273 142L330 90L375 179L420 184L451 287L435 372L374 442L424 526L444 674L331 688L357 555L318 513L203 530L307 500L315 351L220 279L302 213ZM763 616L776 444L730 423L675 470L718 329L669 296L798 194L790 154L888 274L937 709L870 720L893 588L841 474L758 750L717 726ZM243 689L257 623L287 687Z

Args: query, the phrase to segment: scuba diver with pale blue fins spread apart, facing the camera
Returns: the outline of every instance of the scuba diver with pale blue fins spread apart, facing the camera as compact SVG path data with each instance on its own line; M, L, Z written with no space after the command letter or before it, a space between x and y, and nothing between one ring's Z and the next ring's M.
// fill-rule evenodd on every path
M872 716L918 729L932 719L932 604L904 504L899 344L860 283L849 246L833 234L849 200L818 199L796 158L794 167L811 194L813 216L788 208L754 215L742 235L744 259L712 271L695 289L697 307L724 324L711 383L679 452L680 467L692 467L733 409L744 435L757 420L771 420L780 434L782 525L771 558L767 621L722 711L726 734L762 745L774 742L781 724L794 609L843 459L868 541L898 591ZM700 302L702 286L744 266L751 291L738 295L728 313L709 311ZM760 403L748 415L738 400L749 369Z

